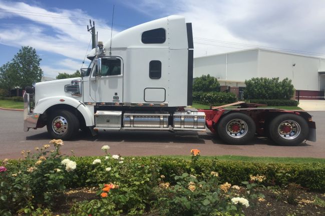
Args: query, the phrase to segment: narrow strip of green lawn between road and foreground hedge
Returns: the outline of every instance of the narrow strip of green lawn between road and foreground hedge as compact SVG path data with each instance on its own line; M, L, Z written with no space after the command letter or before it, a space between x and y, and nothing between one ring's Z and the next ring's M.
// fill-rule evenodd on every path
M166 156L171 158L182 158L190 160L190 156ZM245 162L256 163L321 163L325 164L323 158L311 158L311 157L249 157L249 156L237 156L237 155L221 155L221 156L201 156L202 159L218 159L218 160L235 160Z

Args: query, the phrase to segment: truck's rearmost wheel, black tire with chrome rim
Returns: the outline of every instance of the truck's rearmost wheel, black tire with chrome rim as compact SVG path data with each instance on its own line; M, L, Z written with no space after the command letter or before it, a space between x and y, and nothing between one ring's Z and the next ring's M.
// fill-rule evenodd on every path
M281 114L269 124L271 140L279 145L295 146L307 138L309 127L307 121L295 114Z

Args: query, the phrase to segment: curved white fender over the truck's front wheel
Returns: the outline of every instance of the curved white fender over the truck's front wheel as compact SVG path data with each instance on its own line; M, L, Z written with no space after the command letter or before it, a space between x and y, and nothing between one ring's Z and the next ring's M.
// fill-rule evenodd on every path
M58 104L72 106L84 116L86 126L94 125L94 114L79 100L67 96L54 96L40 99L34 109L34 113L43 114L47 109Z

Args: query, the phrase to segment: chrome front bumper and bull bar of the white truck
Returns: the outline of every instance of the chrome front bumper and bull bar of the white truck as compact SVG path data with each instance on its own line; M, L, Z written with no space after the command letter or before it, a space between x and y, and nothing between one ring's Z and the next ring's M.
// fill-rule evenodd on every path
M30 107L30 94L26 93L23 96L24 98L24 131L29 131L30 128L36 128L37 121L39 120L40 115L36 113L31 113Z

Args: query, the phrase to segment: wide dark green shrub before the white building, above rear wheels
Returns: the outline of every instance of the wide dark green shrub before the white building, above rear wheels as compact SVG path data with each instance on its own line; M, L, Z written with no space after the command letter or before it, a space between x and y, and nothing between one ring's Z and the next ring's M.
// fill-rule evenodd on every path
M288 78L279 81L279 78L252 78L245 80L245 99L281 99L289 100L294 93L291 80Z

